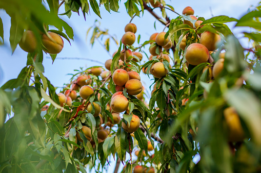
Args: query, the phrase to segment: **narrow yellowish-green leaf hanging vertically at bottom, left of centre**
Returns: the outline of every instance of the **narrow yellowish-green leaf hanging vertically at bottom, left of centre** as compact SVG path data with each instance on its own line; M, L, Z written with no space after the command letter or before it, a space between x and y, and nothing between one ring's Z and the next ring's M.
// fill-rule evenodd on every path
M123 130L123 128L118 128L118 132L116 133L114 144L115 144L116 152L118 153L118 156L122 161L124 161L124 157L126 155L125 136L126 133Z

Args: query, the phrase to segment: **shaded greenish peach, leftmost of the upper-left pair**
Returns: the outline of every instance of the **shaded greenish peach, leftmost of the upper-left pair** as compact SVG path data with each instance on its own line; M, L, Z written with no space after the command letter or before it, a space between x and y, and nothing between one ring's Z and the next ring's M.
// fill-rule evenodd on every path
M37 40L32 31L25 31L18 44L22 50L29 53L34 52L37 48Z

